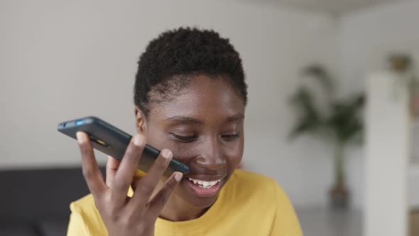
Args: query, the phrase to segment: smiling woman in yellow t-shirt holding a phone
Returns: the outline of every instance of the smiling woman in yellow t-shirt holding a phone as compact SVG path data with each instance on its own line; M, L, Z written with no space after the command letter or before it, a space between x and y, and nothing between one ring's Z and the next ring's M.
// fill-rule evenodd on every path
M106 181L77 133L92 194L70 205L67 235L302 235L275 181L236 170L246 101L239 53L218 33L178 28L151 41L136 75L137 134L121 163L109 157ZM138 175L146 142L162 151ZM172 158L190 173L162 177Z

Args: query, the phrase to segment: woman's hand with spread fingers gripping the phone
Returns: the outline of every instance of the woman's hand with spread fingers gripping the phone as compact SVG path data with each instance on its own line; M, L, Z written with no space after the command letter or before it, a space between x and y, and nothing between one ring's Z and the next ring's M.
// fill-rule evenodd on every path
M94 158L89 136L84 132L77 132L77 140L82 154L83 176L108 234L154 235L154 225L160 210L182 178L182 173L173 173L165 186L151 198L160 177L172 159L171 151L162 150L147 175L133 182L145 146L144 137L137 134L131 139L120 163L115 159L108 159L105 183ZM135 191L132 198L129 198L126 194L131 183Z

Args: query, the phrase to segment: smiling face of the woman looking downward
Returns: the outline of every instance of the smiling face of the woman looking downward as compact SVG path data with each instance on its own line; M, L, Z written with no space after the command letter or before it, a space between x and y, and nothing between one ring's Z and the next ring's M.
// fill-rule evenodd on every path
M175 195L197 208L214 203L241 161L243 124L244 101L225 77L197 75L173 100L151 104L147 143L191 169Z

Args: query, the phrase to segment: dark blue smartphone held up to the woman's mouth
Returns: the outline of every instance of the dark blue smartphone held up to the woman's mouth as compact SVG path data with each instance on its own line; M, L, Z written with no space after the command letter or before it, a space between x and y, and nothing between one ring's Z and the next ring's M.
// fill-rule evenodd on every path
M61 122L58 124L57 129L62 134L66 134L73 139L77 139L76 133L78 131L86 132L90 136L94 149L112 156L119 161L121 161L125 154L126 147L131 141L131 135L126 134L121 131L121 129L118 129L97 117L84 117ZM160 151L158 149L146 144L138 163L138 169L147 172L151 166L153 166L153 163L156 161L159 154ZM169 177L174 171L180 171L186 174L189 173L190 168L184 163L172 159L164 175Z

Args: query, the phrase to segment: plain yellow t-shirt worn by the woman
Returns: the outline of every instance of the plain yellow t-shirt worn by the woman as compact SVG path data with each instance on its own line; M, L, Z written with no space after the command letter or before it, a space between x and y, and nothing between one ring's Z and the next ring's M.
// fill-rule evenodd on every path
M92 195L70 204L67 236L107 235ZM298 218L276 181L236 170L215 203L200 218L171 222L158 218L156 236L302 236Z

